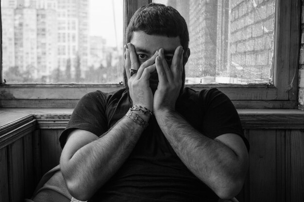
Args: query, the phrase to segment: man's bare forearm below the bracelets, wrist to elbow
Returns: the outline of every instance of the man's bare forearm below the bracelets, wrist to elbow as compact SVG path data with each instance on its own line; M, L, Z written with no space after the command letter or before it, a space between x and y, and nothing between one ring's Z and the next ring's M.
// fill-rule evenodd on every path
M90 198L118 171L142 131L140 125L124 117L101 138L84 145L73 155L64 155L64 148L61 166L71 194L84 201Z

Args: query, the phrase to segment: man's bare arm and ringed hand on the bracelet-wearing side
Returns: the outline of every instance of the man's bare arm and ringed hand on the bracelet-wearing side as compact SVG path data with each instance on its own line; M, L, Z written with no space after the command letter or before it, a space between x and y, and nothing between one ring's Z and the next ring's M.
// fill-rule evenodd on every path
M125 69L129 93L134 105L152 111L153 94L149 86L151 72L155 70L155 57L139 66L132 44L126 49ZM129 69L138 70L131 77ZM144 121L149 115L133 111ZM128 117L122 118L105 135L98 138L85 130L72 131L62 151L60 165L71 195L88 200L113 174L132 152L143 128Z

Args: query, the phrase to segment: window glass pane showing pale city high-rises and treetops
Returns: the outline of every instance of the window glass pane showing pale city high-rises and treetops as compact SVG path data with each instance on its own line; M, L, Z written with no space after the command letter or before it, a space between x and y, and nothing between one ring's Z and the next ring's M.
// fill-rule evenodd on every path
M122 81L123 0L1 0L7 83Z

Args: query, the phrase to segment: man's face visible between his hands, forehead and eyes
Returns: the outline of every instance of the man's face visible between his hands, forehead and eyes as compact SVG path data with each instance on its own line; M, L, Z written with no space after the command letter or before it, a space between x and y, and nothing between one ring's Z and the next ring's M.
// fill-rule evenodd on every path
M171 65L175 49L178 46L181 46L180 38L178 36L167 37L160 35L149 35L144 31L133 32L130 43L132 43L135 47L139 65L151 58L156 50L163 48L169 67ZM157 89L157 86L158 75L155 70L150 77L150 87L153 92Z

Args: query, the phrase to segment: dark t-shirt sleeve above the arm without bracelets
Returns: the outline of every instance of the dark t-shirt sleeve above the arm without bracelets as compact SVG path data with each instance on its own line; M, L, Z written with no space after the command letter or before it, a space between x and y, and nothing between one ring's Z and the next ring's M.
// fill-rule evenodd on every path
M242 125L231 100L218 89L210 89L200 93L203 99L203 131L205 135L215 139L226 133L239 135L249 150L249 142L244 137Z

